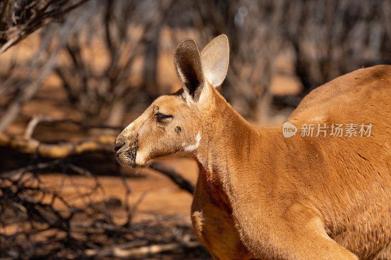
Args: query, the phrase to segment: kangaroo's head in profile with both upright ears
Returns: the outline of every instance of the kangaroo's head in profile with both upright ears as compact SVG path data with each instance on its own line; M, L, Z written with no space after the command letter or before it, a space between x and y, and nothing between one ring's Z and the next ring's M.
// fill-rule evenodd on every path
M205 115L213 106L213 88L225 79L228 60L225 35L209 42L201 53L194 40L183 40L174 51L182 88L154 100L122 131L114 145L118 161L134 167L148 165L152 160L192 155L208 120Z

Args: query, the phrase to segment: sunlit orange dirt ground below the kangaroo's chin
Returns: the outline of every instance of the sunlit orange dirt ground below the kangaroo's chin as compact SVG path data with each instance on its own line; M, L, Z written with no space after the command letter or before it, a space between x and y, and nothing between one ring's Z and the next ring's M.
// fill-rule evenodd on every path
M164 163L195 184L198 169L194 160L181 158L166 160ZM151 217L162 215L175 216L176 219L181 220L182 224L191 225L190 206L192 196L189 192L180 189L166 176L152 169L140 168L136 169L136 172L135 176L131 176L126 180L131 190L130 206L135 205L142 197L141 203L137 206L134 221L148 220ZM95 183L93 178L80 175L48 173L41 176L41 180L45 185L53 188L58 186L63 178L65 178L66 183L77 183L81 186L93 186ZM102 183L108 199L121 201L124 199L126 187L119 176L100 175L97 178ZM65 198L73 198L77 195L77 192L73 187L63 189ZM75 205L78 205L77 202ZM116 215L116 217L121 222L121 218L124 216Z

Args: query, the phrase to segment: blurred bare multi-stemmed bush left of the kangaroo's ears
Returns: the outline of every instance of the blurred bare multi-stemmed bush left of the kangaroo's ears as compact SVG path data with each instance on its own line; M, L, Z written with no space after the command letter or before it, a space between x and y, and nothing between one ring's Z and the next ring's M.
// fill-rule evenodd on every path
M69 101L86 120L118 125L124 118L126 107L139 103L140 97L143 100L149 95L144 82L134 82L129 76L134 73L134 62L137 58L146 55L148 46L157 42L159 31L174 0L156 2L155 5L149 6L154 15L144 17L138 15L140 10L145 8L145 1L103 2L105 5L96 10L96 17L103 23L102 31L97 33L96 28L87 26L86 31L91 39L99 37L104 40L109 54L108 64L102 66L99 71L94 69L91 58L81 55L81 50L86 48L86 45L94 48L91 43L93 41L85 41L83 34L76 33L69 38L65 48L69 62L58 64L56 73L62 80ZM131 33L135 27L140 29L140 34ZM156 70L153 67L157 65L155 61L145 65L152 70L150 74L153 75ZM144 78L151 80L154 77ZM151 84L155 86L156 83Z

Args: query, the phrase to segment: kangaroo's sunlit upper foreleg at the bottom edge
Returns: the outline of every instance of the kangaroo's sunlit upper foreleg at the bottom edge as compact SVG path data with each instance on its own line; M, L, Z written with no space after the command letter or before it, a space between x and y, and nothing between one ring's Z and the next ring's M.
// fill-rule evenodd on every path
M252 222L254 225L255 222ZM241 233L244 243L257 258L358 260L357 256L327 235L321 218L309 207L295 205L280 213L279 217L269 216L262 226L252 230L243 228ZM253 230L262 232L251 233Z

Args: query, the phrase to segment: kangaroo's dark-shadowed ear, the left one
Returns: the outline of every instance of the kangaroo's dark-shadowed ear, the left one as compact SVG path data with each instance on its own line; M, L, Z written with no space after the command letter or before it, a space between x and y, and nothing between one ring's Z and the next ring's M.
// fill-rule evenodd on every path
M174 64L184 92L194 97L204 83L201 58L194 40L186 39L179 43L174 51Z

